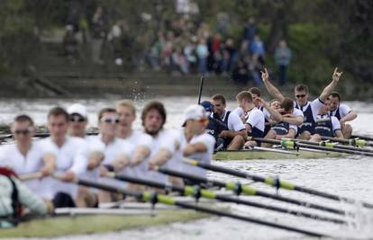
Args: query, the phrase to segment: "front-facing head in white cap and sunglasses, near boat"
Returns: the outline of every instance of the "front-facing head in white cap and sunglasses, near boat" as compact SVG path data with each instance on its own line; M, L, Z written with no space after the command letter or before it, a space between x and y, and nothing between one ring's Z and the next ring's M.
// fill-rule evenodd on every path
M68 134L73 137L84 138L88 114L86 106L75 103L68 107Z

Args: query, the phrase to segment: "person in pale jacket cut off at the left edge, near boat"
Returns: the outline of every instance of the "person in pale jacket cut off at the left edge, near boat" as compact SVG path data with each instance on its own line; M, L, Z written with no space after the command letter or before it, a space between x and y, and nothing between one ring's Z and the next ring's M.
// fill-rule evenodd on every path
M26 184L20 182L12 170L0 167L0 186L0 229L16 226L23 207L36 215L51 213L50 203L41 200Z

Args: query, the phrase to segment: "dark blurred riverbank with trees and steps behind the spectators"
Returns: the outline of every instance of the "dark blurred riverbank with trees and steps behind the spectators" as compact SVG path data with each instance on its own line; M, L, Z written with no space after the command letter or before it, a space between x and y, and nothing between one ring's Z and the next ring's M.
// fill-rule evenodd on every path
M198 2L196 13L177 13L174 2L167 0L155 5L143 0L141 3L96 0L69 5L66 1L41 0L36 4L24 0L4 1L0 10L0 20L4 22L0 26L0 96L91 98L100 94L102 97L144 95L151 98L156 95L195 95L198 75L154 70L147 64L134 67L133 60L147 54L159 31L168 31L168 25L183 17L205 23L212 34L222 31L223 39L232 39L235 48L240 49L243 31L249 18L254 17L266 48L265 66L272 70L272 78L277 76L274 51L279 40L287 40L293 52L288 84L284 86L289 96L295 84L307 84L310 92L317 95L322 85L330 80L332 69L339 67L343 78L337 91L343 100L372 99L373 52L368 49L373 48L373 25L369 24L368 13L373 9L373 2L363 1L361 6L363 3L359 0L343 4L335 1L242 3L232 0L216 3L208 0ZM90 20L97 6L102 6L107 13L106 31L115 22L125 26L127 42L130 42L126 47L131 51L125 51L121 66L112 61L113 49L110 48L104 48L103 58L111 59L104 65L90 61ZM71 9L77 10L77 15L69 16L68 13L75 13ZM71 20L68 17L75 17L82 34L78 48L83 61L71 61L62 54L66 24ZM106 47L110 45L105 44ZM253 81L246 86L237 85L231 78L229 75L206 77L206 95L234 95L254 85Z

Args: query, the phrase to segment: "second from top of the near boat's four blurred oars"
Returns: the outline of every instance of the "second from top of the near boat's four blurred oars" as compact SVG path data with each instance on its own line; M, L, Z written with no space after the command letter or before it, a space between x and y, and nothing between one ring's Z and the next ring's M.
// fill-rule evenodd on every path
M295 200L289 197L283 197L278 194L271 194L266 191L259 191L250 186L241 185L241 183L218 182L218 181L213 181L213 180L207 180L206 178L201 177L201 176L196 176L196 175L192 175L188 173L181 173L181 172L177 172L177 171L174 171L168 168L163 168L163 167L158 168L157 171L159 171L159 173L165 173L168 175L177 176L177 177L181 177L184 179L190 179L196 182L203 182L203 183L211 184L212 186L226 188L227 190L234 191L238 195L241 193L244 193L245 195L249 195L249 196L259 196L259 197L264 197L264 198L268 198L272 200L279 200L279 201L295 204L298 206L303 206L305 208L323 210L323 211L338 214L341 216L345 215L345 212L341 209L333 209L330 207L326 207L323 205L319 205L319 204L315 204L315 203L311 203L311 202L307 202L303 200Z

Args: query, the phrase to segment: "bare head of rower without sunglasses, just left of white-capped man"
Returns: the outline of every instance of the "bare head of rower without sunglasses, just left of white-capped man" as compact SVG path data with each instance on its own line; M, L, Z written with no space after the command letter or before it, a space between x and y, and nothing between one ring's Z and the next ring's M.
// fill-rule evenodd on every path
M52 108L48 112L48 129L53 140L62 141L68 132L68 111L61 107Z

